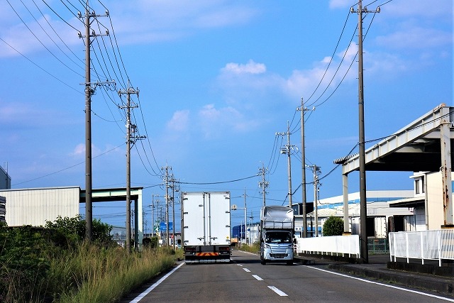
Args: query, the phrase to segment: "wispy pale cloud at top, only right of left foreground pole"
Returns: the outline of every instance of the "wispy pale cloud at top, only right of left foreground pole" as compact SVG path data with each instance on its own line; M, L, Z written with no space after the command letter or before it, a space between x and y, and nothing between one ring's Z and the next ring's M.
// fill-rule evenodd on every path
M128 6L117 0L109 6L115 31L121 33L120 44L175 40L192 35L200 28L247 23L258 14L257 9L247 4L225 0L131 0Z

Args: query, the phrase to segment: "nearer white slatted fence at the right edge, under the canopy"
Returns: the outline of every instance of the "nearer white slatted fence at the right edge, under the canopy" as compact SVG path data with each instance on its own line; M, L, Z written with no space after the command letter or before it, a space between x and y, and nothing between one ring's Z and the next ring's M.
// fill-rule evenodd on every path
M454 260L454 230L439 231L399 231L389 233L389 253L391 261L396 258L438 260Z

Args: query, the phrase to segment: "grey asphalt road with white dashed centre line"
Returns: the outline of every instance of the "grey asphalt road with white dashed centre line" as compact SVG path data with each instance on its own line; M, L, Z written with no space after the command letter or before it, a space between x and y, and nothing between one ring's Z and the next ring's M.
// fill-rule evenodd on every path
M234 251L232 263L182 265L159 285L122 302L443 302L436 294L411 292L326 271L323 265L261 265L258 255ZM435 295L436 297L434 297ZM453 299L446 298L450 302Z

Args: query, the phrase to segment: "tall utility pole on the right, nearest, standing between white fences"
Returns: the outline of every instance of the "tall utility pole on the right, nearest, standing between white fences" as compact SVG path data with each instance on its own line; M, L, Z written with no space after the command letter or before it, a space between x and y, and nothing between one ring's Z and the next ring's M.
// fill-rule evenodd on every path
M359 107L359 148L360 148L360 241L362 263L369 263L367 248L367 201L366 201L366 160L365 160L365 129L364 129L364 83L362 67L362 13L380 13L380 7L376 11L362 9L362 1L358 2L358 11L353 7L351 13L358 13L358 107Z

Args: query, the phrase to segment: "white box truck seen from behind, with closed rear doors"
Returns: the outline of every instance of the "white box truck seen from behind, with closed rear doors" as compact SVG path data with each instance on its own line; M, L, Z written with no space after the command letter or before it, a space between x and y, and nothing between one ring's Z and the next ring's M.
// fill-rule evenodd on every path
M230 192L182 193L185 263L230 262Z

